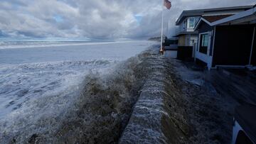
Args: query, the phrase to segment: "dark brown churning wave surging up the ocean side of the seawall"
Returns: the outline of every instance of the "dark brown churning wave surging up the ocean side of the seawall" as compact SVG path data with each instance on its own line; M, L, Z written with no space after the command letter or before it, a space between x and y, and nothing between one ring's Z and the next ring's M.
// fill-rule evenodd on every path
M117 143L148 77L151 50L119 63L107 74L87 75L76 104L58 129L55 142Z

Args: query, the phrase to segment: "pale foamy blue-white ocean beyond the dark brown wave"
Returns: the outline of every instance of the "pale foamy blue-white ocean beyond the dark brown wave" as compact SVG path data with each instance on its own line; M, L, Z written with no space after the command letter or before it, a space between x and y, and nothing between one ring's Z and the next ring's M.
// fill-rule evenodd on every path
M112 73L120 62L152 44L150 41L26 43L29 46L20 47L5 44L0 48L0 139L9 142L11 136L43 123L42 117L61 116L78 100L88 74Z

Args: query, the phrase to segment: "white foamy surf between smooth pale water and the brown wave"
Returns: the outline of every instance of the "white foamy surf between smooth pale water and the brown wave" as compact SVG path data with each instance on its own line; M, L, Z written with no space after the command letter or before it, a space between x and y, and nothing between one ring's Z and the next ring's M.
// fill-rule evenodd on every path
M0 118L27 101L78 89L89 70L110 67L115 61L43 62L0 67Z

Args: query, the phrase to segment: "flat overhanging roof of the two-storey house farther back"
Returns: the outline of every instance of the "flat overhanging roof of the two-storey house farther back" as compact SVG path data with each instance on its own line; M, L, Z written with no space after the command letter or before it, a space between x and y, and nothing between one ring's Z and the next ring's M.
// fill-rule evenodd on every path
M223 8L214 8L214 9L196 9L196 10L188 10L182 11L181 15L178 17L176 21L176 26L178 26L184 18L188 16L203 16L204 13L207 12L216 12L216 11L232 11L232 10L244 10L252 9L253 6L233 6L233 7L223 7Z

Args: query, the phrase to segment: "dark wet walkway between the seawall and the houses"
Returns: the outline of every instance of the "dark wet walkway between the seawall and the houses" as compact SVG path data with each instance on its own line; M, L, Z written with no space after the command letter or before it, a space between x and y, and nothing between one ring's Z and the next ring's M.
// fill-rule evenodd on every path
M256 104L256 74L248 70L203 70L193 62L172 59L176 87L189 123L189 143L230 143L236 106ZM178 79L180 78L180 79Z

